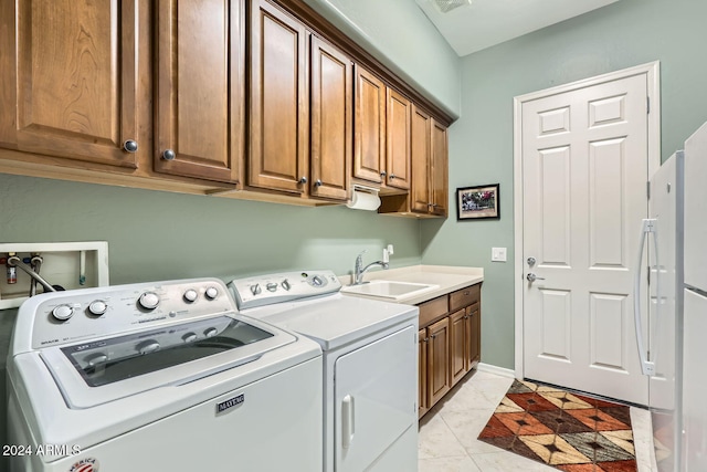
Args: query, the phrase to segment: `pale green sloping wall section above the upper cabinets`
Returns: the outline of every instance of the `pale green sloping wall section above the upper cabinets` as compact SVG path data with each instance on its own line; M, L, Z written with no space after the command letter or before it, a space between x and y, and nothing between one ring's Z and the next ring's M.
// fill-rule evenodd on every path
M460 60L414 0L304 0L452 116Z

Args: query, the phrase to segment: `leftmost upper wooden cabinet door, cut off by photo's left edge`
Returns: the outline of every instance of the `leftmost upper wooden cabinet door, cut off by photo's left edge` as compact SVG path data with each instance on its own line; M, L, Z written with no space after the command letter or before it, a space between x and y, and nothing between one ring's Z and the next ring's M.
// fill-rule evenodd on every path
M138 14L137 0L2 1L0 146L135 168L148 151L137 120L147 106L136 102Z

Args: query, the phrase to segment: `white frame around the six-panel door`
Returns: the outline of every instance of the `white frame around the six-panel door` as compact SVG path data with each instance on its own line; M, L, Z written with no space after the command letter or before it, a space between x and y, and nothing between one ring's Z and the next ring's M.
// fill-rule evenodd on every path
M524 348L523 338L524 324L524 279L525 265L523 261L523 105L538 98L551 95L572 92L588 86L599 85L605 82L613 82L635 75L645 75L648 93L648 178L661 167L661 64L659 61L636 65L621 71L594 77L583 78L564 85L558 85L529 94L514 97L513 117L513 170L514 170L514 312L515 312L515 375L516 378L524 378ZM646 182L647 185L647 182ZM636 230L637 231L637 230Z

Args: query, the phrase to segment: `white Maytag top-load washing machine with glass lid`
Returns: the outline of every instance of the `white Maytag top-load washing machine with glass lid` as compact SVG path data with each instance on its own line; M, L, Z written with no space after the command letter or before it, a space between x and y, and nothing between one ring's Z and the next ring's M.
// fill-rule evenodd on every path
M38 295L8 357L11 471L319 471L321 373L215 279Z

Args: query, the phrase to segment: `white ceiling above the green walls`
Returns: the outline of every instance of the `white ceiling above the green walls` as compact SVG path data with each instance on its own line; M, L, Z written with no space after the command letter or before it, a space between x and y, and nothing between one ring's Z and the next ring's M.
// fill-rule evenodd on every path
M441 13L415 0L460 56L568 20L619 0L473 0Z

